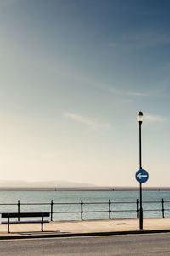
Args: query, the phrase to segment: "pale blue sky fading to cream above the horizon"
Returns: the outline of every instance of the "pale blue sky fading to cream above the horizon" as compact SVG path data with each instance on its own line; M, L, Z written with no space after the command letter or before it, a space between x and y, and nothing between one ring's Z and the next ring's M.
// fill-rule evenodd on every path
M170 2L0 0L0 179L170 186Z

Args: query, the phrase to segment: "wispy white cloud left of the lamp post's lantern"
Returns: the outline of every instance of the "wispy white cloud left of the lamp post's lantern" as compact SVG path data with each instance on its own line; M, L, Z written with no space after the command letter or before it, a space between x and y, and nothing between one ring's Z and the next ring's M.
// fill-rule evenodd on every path
M77 113L64 113L64 116L69 118L69 119L75 120L79 123L82 123L84 125L87 125L92 130L99 130L101 128L104 128L104 129L110 129L111 128L110 123L101 123L97 119L90 119L88 117L82 116L82 115L77 114Z

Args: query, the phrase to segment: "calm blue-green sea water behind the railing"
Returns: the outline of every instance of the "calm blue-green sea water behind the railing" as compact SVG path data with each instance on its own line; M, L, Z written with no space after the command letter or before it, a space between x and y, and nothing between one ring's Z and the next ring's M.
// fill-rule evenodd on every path
M143 203L144 218L159 218L162 216L161 199L166 202L165 217L170 217L170 191L143 191L143 201L156 201L156 203ZM50 212L50 205L22 205L27 203L79 203L77 205L55 205L54 212L80 212L80 202L83 200L83 219L109 218L109 199L111 211L136 210L138 191L0 191L0 204L17 203L20 200L20 212ZM92 202L105 202L105 204L86 204ZM121 202L121 203L118 203ZM128 204L127 202L132 202ZM151 211L147 211L150 210ZM168 210L169 209L169 210ZM153 211L154 210L154 211ZM159 211L155 211L159 210ZM17 205L0 205L0 212L17 212ZM88 213L87 213L88 211ZM106 211L106 212L92 212ZM136 218L136 212L111 212L111 218ZM80 213L54 213L54 220L81 219Z

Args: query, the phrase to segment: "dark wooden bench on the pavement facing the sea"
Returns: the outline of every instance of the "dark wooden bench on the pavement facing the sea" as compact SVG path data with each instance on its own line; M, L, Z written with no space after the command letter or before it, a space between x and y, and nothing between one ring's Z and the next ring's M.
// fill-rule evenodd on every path
M20 221L20 218L34 218L40 217L41 220L26 220ZM2 213L1 218L8 218L8 221L3 221L1 224L8 224L8 233L9 224L21 224L21 223L41 223L42 224L42 232L43 232L43 224L48 223L48 220L44 220L44 217L49 217L49 212L8 212ZM18 218L18 221L10 221L10 218Z

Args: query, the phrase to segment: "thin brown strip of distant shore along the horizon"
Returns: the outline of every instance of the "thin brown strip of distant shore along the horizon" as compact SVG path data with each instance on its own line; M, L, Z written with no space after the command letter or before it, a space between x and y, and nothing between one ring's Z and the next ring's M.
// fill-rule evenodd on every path
M139 191L139 187L0 187L0 191ZM170 187L146 187L143 191L170 191Z

